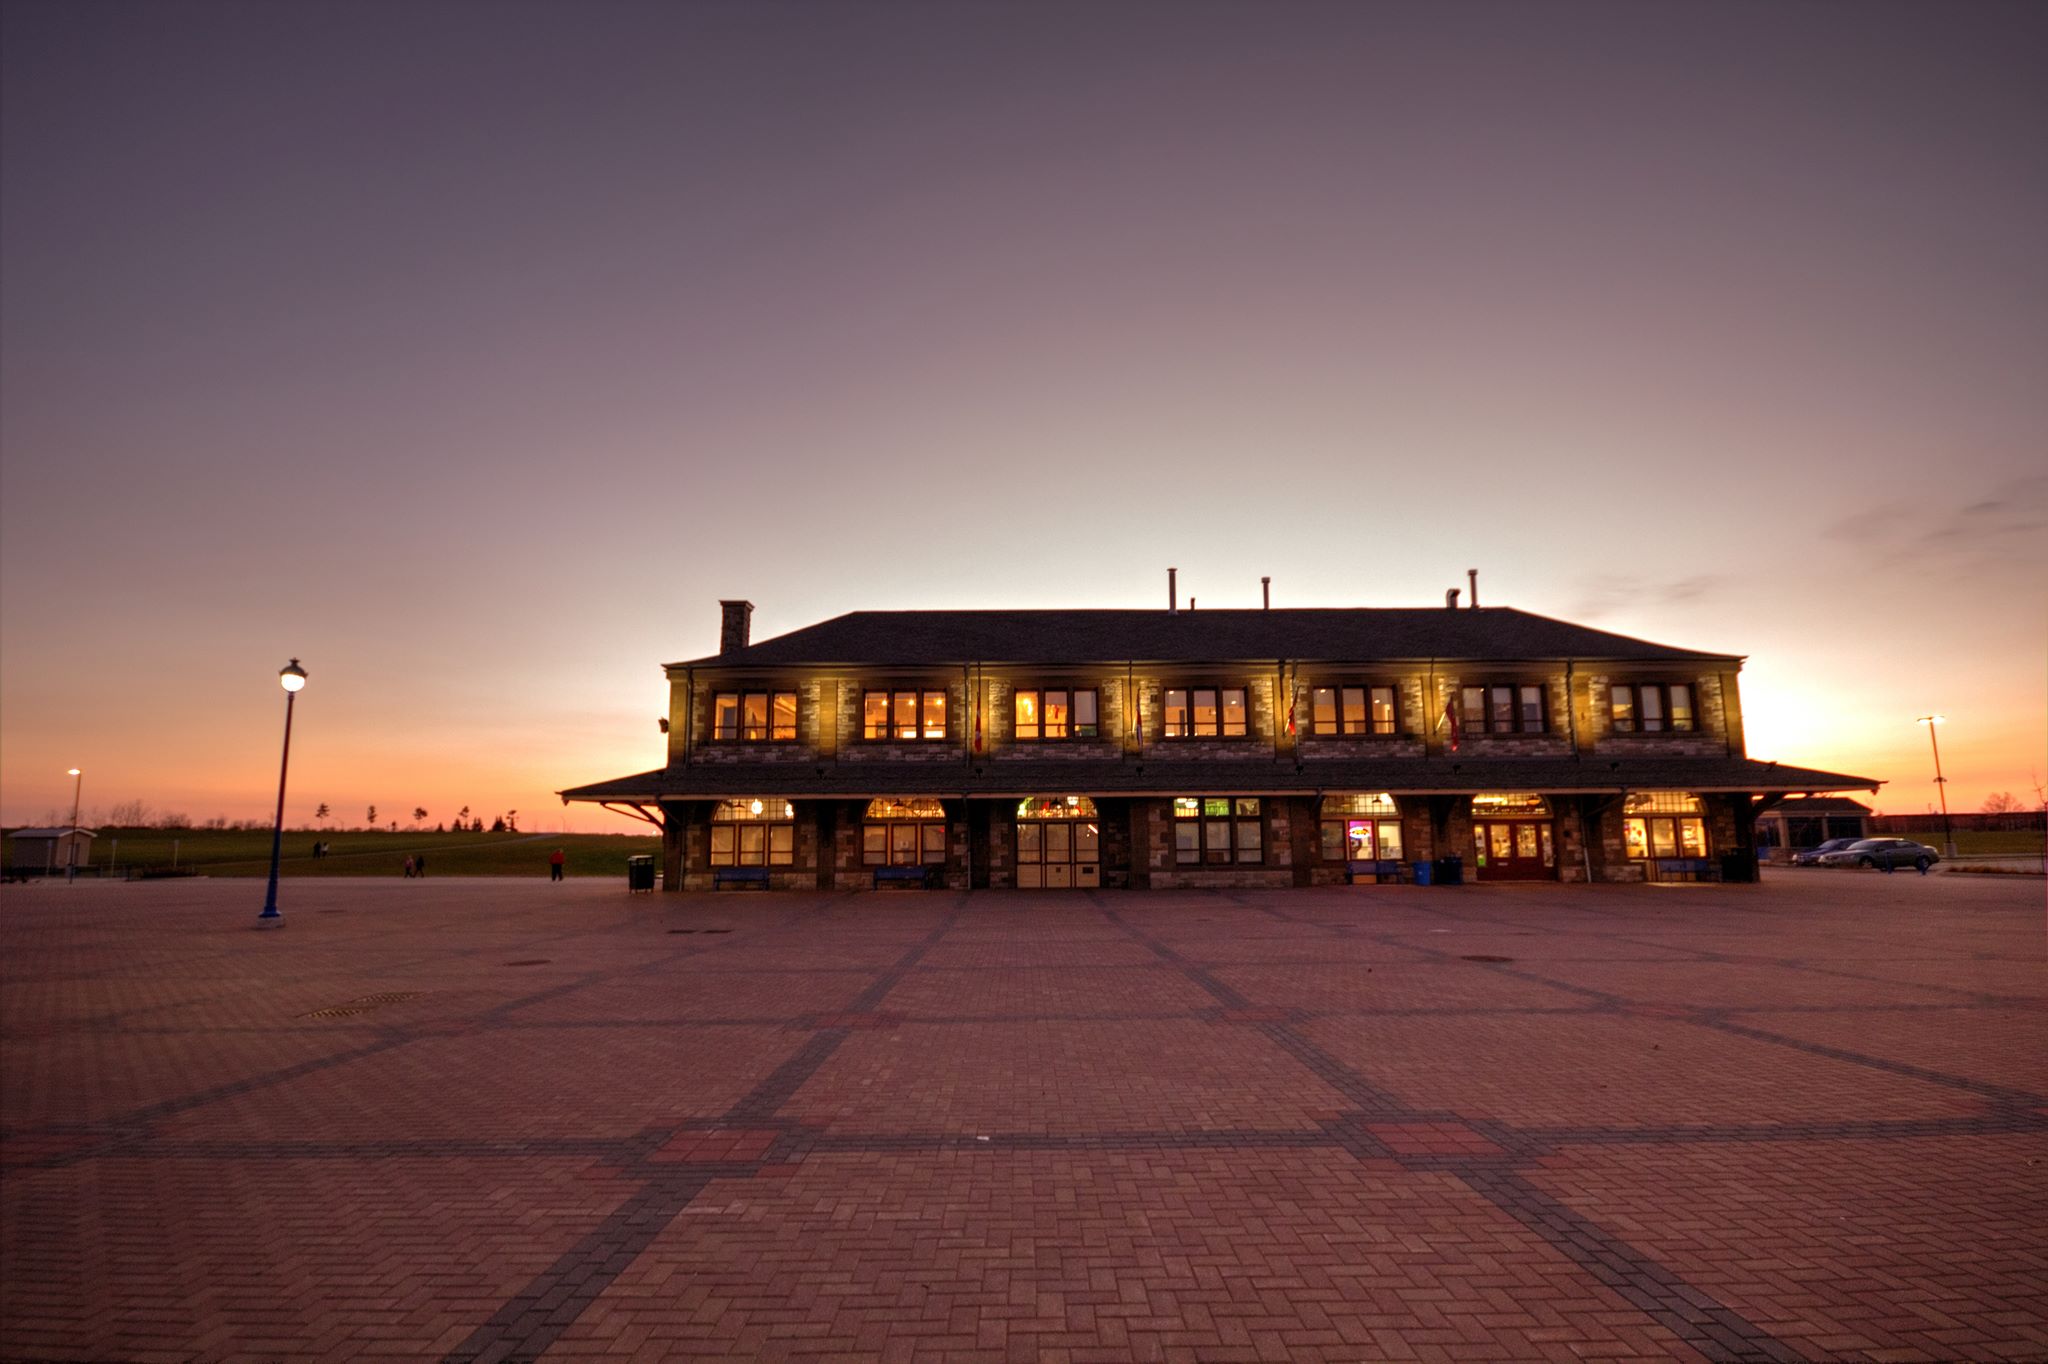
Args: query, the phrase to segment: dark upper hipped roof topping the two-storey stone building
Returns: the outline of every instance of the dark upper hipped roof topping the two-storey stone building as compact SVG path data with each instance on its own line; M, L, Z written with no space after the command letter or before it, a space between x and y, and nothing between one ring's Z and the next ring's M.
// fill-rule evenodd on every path
M670 668L791 664L1206 664L1229 659L1712 659L1511 606L1450 610L854 610Z

